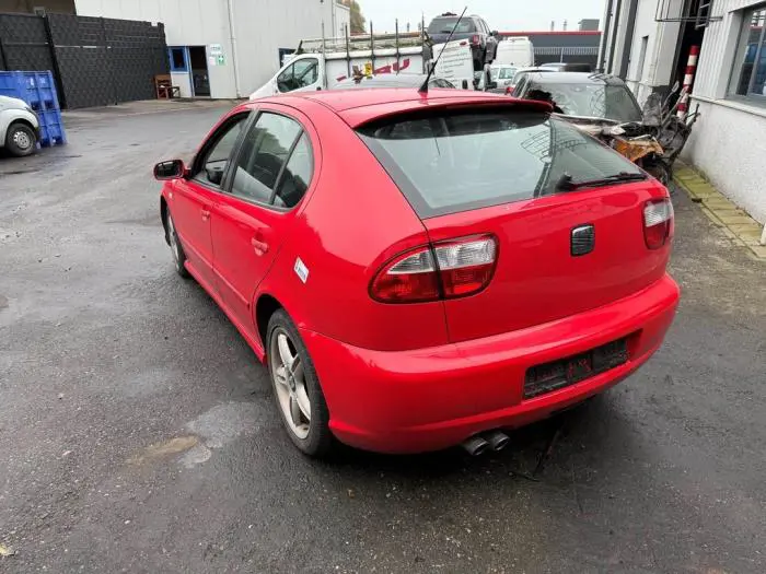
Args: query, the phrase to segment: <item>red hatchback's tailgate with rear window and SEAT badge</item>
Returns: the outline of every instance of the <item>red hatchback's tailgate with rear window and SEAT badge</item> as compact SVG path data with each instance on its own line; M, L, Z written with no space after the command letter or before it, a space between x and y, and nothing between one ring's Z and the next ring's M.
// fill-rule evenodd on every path
M434 259L440 242L496 244L481 290L443 296L452 341L600 307L665 272L666 190L564 120L475 107L386 118L359 133L423 222ZM645 222L655 212L666 225L659 243Z

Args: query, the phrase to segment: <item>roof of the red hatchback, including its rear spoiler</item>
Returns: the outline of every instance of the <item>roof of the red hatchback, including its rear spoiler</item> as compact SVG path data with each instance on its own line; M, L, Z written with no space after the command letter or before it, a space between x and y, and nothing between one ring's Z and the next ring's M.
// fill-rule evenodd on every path
M514 99L500 94L468 90L431 89L420 94L411 87L381 87L378 90L327 90L323 92L292 92L260 102L286 104L301 108L305 101L322 104L335 112L350 127L387 116L417 112L419 109L466 106L517 107L529 112L548 113L553 108L544 102ZM257 104L259 101L255 101Z

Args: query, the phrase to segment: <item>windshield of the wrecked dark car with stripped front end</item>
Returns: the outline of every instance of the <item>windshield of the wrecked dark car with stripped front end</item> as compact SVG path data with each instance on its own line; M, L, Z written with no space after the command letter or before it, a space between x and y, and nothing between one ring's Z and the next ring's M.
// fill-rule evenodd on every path
M554 104L568 116L607 118L616 121L642 119L641 109L625 85L541 82L532 89L548 92Z

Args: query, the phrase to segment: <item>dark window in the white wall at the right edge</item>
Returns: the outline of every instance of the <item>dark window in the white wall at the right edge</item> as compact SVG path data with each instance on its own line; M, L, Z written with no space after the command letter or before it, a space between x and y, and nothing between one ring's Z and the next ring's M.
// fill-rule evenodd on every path
M766 102L766 7L747 10L736 48L730 94Z

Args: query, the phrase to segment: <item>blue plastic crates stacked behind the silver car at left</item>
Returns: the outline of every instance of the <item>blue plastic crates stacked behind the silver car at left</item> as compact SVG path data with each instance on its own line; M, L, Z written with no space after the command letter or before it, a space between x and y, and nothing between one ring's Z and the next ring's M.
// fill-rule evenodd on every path
M39 119L44 148L67 143L56 82L50 72L0 72L0 95L26 102Z

